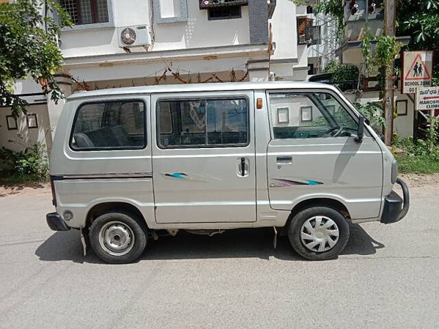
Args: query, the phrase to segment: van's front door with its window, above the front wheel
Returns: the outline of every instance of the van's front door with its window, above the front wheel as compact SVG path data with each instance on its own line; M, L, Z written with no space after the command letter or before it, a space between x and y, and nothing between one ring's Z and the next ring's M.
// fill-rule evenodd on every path
M383 160L358 118L331 90L269 93L273 139L267 166L270 205L292 210L307 199L333 199L353 219L376 218L381 207Z

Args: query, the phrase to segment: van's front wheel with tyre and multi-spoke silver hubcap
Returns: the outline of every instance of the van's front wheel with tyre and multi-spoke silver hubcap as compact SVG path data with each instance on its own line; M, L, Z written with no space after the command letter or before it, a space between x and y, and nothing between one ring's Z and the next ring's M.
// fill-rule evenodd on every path
M335 258L349 240L349 223L333 208L312 207L300 211L289 223L293 249L309 260Z

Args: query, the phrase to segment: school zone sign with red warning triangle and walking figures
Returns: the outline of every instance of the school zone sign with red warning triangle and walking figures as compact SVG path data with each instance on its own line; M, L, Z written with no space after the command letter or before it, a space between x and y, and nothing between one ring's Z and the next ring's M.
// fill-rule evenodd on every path
M416 88L431 86L433 51L404 51L401 93L416 93Z

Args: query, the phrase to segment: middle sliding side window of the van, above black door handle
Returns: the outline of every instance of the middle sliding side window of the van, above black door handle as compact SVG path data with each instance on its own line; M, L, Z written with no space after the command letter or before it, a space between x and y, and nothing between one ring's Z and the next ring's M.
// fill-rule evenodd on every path
M248 145L247 99L180 99L157 102L158 146Z

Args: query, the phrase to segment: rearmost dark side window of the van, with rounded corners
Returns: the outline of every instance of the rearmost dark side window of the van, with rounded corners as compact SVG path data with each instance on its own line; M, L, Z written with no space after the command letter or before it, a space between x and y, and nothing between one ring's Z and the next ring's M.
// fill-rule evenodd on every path
M145 103L85 103L76 113L70 145L75 151L143 149L146 146Z

